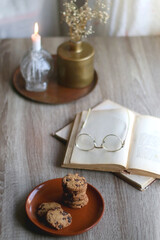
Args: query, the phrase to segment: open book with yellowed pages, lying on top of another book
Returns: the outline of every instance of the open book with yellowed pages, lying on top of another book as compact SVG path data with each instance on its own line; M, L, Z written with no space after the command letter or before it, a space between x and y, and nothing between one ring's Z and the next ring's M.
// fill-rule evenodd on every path
M83 111L76 115L63 165L110 172L127 170L133 174L160 178L160 119L121 107L91 111L85 127L82 127L87 114ZM125 140L125 144L114 152L104 148L83 151L75 144L77 135L82 133L95 139L97 146L109 134L118 136L122 142Z

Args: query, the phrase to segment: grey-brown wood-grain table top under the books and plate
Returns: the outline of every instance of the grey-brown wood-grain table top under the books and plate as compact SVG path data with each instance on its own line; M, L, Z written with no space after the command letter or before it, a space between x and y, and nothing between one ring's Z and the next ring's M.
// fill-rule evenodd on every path
M64 40L46 38L42 43L55 54ZM55 239L29 222L25 200L36 185L75 171L60 167L66 146L51 134L68 124L77 112L111 99L142 114L160 117L160 37L97 37L89 41L96 51L98 85L89 95L61 105L35 103L16 93L12 77L31 42L0 41L1 239ZM111 173L78 172L101 192L106 208L93 229L66 239L160 239L158 180L140 192Z

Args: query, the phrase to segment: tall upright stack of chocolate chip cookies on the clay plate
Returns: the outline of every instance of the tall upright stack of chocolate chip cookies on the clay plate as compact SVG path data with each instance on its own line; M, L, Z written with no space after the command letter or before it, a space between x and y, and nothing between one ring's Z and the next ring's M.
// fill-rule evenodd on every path
M87 182L84 177L76 174L68 174L63 178L63 202L71 208L82 208L87 205L89 199L86 194Z

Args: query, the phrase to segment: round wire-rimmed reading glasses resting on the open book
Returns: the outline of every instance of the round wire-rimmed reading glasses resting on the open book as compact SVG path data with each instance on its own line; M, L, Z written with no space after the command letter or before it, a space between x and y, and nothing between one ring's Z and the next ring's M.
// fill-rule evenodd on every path
M84 126L86 125L90 113L91 113L91 109L88 110L86 119L85 119L81 129L83 129ZM128 117L128 121L129 121L128 111L127 111L127 117ZM125 136L124 140L122 140L118 135L111 133L111 134L106 135L103 138L100 146L97 146L95 139L91 135L89 135L88 133L80 133L76 137L75 145L77 148L79 148L82 151L90 151L94 148L97 148L97 149L103 148L108 152L117 152L120 149L122 149L125 145L125 140L126 140L127 133L128 133L127 126L128 125L126 125L126 129L125 129L125 133L124 133L124 136Z

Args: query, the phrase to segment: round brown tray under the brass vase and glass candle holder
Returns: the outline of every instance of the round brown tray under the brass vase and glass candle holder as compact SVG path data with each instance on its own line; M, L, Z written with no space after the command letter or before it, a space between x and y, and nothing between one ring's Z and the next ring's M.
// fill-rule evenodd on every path
M53 55L56 62L56 55ZM55 64L56 68L56 64ZM13 76L13 86L22 96L41 103L60 104L77 100L88 93L90 93L98 82L96 71L94 72L94 79L92 83L85 88L67 88L58 84L56 77L56 69L53 79L50 79L48 88L45 92L30 92L25 89L25 80L18 67Z

